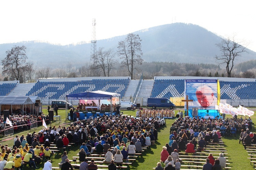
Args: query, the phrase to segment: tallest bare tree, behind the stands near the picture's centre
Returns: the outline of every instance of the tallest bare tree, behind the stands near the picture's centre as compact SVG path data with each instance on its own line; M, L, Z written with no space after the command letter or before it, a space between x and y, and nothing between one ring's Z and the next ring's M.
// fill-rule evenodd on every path
M133 71L137 69L136 65L141 65L143 62L141 41L139 34L130 33L124 41L118 42L118 55L123 59L122 65L127 68L131 79L133 79Z

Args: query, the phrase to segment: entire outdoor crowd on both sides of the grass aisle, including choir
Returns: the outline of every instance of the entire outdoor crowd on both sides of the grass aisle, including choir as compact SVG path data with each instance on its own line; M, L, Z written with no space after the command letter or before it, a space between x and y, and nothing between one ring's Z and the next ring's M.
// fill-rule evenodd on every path
M104 161L111 167L122 166L123 161L129 159L129 155L134 155L137 151L142 151L143 146L150 146L151 141L157 140L157 129L163 125L162 120L158 117L164 117L165 113L171 110L142 110L139 115L148 115L148 117L124 117L124 116L106 116L73 122L69 126L53 126L43 128L40 132L33 132L27 136L16 136L14 139L13 149L8 146L1 146L0 153L0 170L6 165L7 167L20 167L24 163L30 167L37 168L36 159L51 156L50 143L56 144L57 148L67 148L69 143L75 143L80 146L79 160L83 161L81 167L88 167L86 156L91 153L105 153ZM151 118L154 116L154 118ZM47 116L33 115L14 115L10 116L12 124L19 126L17 130L29 128L29 122L32 120L41 121L42 118L47 120ZM240 133L240 142L244 147L256 141L256 134L250 132L252 129L252 119L203 119L203 118L178 118L170 127L169 142L163 146L160 156L160 162L156 169L180 169L182 160L179 158L179 151L195 153L204 150L209 142L217 143L221 136L230 135L236 137ZM19 125L19 124L18 124ZM1 122L1 128L5 124ZM22 127L22 128L20 128ZM101 135L102 134L102 135ZM90 136L90 137L89 137ZM212 140L212 141L211 141ZM197 146L198 145L198 146ZM114 147L112 150L111 147ZM67 161L68 160L68 161ZM68 164L69 159L67 151L63 152L60 164ZM46 161L46 166L51 166L51 161ZM206 159L204 167L221 167L226 166L226 159L222 153L215 159L210 153ZM4 165L4 166L3 166ZM91 165L96 164L91 161ZM97 166L97 165L96 165ZM95 166L95 167L96 167ZM63 166L65 170L67 166ZM2 169L1 169L2 168ZM83 168L82 168L83 170ZM85 169L86 170L86 169Z

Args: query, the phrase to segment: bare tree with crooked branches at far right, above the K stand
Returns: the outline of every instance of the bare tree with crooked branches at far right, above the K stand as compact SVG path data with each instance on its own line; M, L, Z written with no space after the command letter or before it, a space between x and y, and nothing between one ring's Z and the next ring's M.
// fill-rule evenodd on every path
M234 37L232 40L230 38L222 38L221 43L216 44L216 46L219 47L222 54L220 56L215 56L215 58L218 60L219 64L224 64L226 66L227 76L231 77L234 60L237 57L241 57L242 52L247 52L247 49L239 43L236 43Z

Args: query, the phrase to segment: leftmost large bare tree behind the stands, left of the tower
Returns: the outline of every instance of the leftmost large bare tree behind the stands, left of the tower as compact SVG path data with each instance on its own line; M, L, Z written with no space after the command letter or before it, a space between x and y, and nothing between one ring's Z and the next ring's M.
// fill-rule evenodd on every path
M26 49L23 45L14 46L11 50L6 51L6 57L2 60L3 74L13 75L16 80L19 80L21 72L28 65Z

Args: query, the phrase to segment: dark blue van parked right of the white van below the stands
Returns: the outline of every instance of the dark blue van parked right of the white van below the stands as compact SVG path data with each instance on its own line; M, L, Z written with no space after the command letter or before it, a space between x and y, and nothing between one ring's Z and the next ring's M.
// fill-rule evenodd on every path
M157 107L169 107L173 109L176 106L168 98L147 98L147 107L152 107L153 109Z

